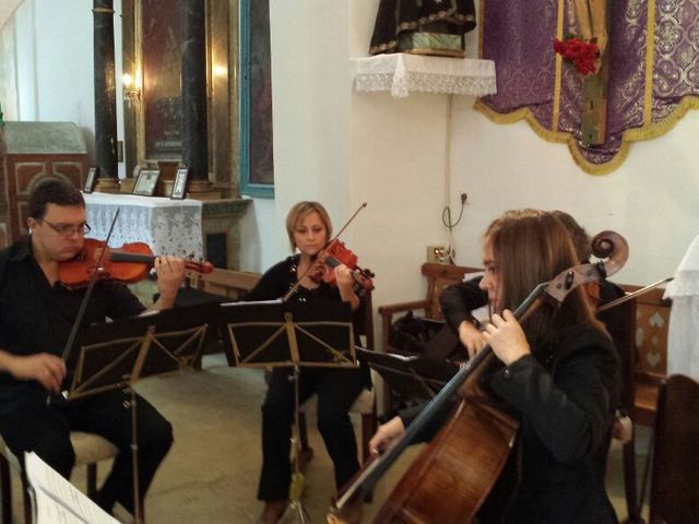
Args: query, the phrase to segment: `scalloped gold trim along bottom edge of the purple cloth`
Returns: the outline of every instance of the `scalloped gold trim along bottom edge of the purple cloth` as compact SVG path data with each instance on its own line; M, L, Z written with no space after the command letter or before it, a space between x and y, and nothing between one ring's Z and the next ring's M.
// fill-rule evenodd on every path
M682 102L675 107L673 112L671 112L663 120L657 122L651 122L648 126L643 126L641 128L629 129L625 131L621 135L621 145L619 146L619 151L614 155L614 157L609 162L605 162L604 164L593 164L589 162L584 156L582 156L581 151L578 148L578 144L572 138L572 134L564 132L564 131L552 131L550 129L544 128L534 117L534 114L531 109L523 107L517 109L512 112L500 114L486 106L481 102L481 99L476 99L473 105L473 108L483 115L485 115L489 120L496 123L514 123L519 120L525 120L532 130L542 139L547 142L553 143L566 143L568 145L568 151L570 151L570 156L572 156L573 162L589 175L608 175L618 168L624 160L626 160L629 154L629 146L631 142L640 142L643 140L652 140L663 134L667 133L672 130L679 120L683 119L689 109L699 109L699 96L695 95L686 95Z

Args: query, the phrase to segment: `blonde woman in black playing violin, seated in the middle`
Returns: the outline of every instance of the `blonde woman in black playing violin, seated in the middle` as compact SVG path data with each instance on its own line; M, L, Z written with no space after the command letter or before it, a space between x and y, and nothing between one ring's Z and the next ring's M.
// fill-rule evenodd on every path
M342 300L350 302L355 312L355 326L363 318L363 303L354 290L355 282L344 264L334 269L336 286L330 278L311 278L322 263L322 250L332 234L332 224L325 209L318 202L299 202L286 216L286 231L296 254L264 273L246 300L270 300L284 297L298 285L291 300L321 302ZM325 275L328 276L328 275ZM320 281L320 282L317 282ZM355 330L356 331L356 330ZM277 522L287 505L292 467L289 439L294 419L294 383L289 368L275 368L262 405L262 473L258 499L265 502L262 521ZM318 429L325 442L335 469L337 487L345 484L358 468L357 446L347 412L360 391L367 385L365 369L303 368L299 377L299 401L318 393Z

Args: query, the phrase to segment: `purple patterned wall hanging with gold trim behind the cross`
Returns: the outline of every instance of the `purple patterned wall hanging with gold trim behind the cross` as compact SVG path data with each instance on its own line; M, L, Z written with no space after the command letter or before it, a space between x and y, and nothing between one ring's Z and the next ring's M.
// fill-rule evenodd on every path
M684 115L676 109L699 107L699 98L694 98L699 96L699 1L607 1L606 140L595 146L581 141L583 78L567 62L557 76L553 41L560 28L564 39L577 34L573 0L482 2L482 55L495 61L498 91L476 107L496 121L528 118L544 138L568 140L576 160L589 172L608 172L620 164L628 141L662 134ZM647 79L652 82L648 90Z

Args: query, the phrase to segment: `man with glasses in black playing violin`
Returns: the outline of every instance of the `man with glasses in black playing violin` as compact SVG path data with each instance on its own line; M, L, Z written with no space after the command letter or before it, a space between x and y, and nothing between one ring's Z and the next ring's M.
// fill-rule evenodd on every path
M118 449L114 467L96 502L111 512L115 502L133 513L131 412L122 391L68 402L72 362L61 355L85 289L58 281L59 264L81 252L85 202L81 192L59 179L39 183L28 200L29 236L0 251L0 434L17 457L36 452L66 478L75 455L70 431L105 437ZM149 309L174 305L185 276L185 262L159 257L154 263L158 300ZM122 319L144 311L122 284L97 281L82 325ZM144 398L138 398L139 488L143 499L173 443L170 424Z

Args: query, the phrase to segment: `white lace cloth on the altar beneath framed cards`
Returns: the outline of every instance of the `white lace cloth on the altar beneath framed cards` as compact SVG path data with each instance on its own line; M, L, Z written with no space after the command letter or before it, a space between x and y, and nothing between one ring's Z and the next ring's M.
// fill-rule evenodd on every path
M145 242L155 254L202 260L201 209L198 200L170 200L135 194L84 194L90 238L104 240L117 209L111 248Z

